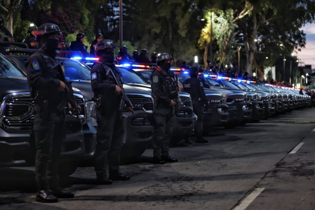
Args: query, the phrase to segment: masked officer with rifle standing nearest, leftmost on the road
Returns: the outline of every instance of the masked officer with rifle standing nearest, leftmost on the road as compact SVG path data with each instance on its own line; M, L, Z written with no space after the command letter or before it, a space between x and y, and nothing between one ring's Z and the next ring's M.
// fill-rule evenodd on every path
M59 186L58 163L61 145L66 137L65 110L57 106L67 89L60 63L55 59L60 29L52 23L39 26L40 48L26 62L27 80L34 99L33 130L36 141L36 201L57 202L57 198L73 198Z

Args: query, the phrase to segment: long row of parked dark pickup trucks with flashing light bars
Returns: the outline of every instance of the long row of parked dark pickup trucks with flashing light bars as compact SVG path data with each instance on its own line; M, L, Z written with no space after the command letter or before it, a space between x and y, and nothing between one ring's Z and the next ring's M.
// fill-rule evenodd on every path
M0 43L1 44L1 43ZM3 43L5 44L5 43ZM10 43L12 45L12 43ZM34 51L23 44L9 47L0 54L0 166L30 166L34 164L35 140L32 131L34 101L26 79L26 60ZM96 146L96 110L90 84L90 67L97 58L83 58L77 52L60 51L57 59L62 63L67 80L72 81L77 103L82 107L80 121L66 117L67 135L63 143L60 162L62 175L72 174L80 164L93 164ZM123 112L123 159L140 156L151 143L153 99L150 74L154 64L121 64L124 89L134 105L135 113ZM185 70L172 68L183 83L189 76ZM210 106L204 112L204 132L224 126L232 128L250 121L257 122L278 114L310 106L307 95L297 90L257 84L249 81L204 75L205 89ZM194 130L197 116L192 111L188 93L180 92L180 111L173 124L174 143ZM82 123L82 125L80 124Z

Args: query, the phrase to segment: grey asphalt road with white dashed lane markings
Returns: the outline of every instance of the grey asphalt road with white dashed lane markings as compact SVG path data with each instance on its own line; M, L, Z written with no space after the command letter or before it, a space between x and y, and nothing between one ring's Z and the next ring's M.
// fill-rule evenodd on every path
M207 144L173 145L178 163L153 165L152 150L121 166L130 181L95 185L92 167L62 183L58 203L34 201L33 168L0 169L0 209L315 209L315 109L235 129ZM304 144L303 144L304 143Z

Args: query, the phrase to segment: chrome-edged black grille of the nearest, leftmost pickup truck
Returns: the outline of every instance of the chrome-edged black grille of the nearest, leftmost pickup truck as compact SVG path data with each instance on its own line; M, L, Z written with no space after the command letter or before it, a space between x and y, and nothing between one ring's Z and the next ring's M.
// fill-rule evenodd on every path
M77 104L81 107L80 115L85 120L84 99L75 96ZM34 120L32 114L34 99L30 96L17 97L10 99L5 106L3 124L8 127L31 128Z

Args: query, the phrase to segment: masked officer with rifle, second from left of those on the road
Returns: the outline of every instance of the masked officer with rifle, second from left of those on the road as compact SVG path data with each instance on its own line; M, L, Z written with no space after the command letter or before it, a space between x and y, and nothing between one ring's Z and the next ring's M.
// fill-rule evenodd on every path
M120 152L123 146L123 117L119 110L121 89L115 85L110 69L117 81L123 83L122 74L114 64L112 40L103 39L96 44L95 55L100 57L91 70L92 90L100 104L96 109L98 124L95 152L97 184L112 184L112 180L129 180L119 172ZM130 110L129 110L130 111ZM109 176L108 176L109 174Z

